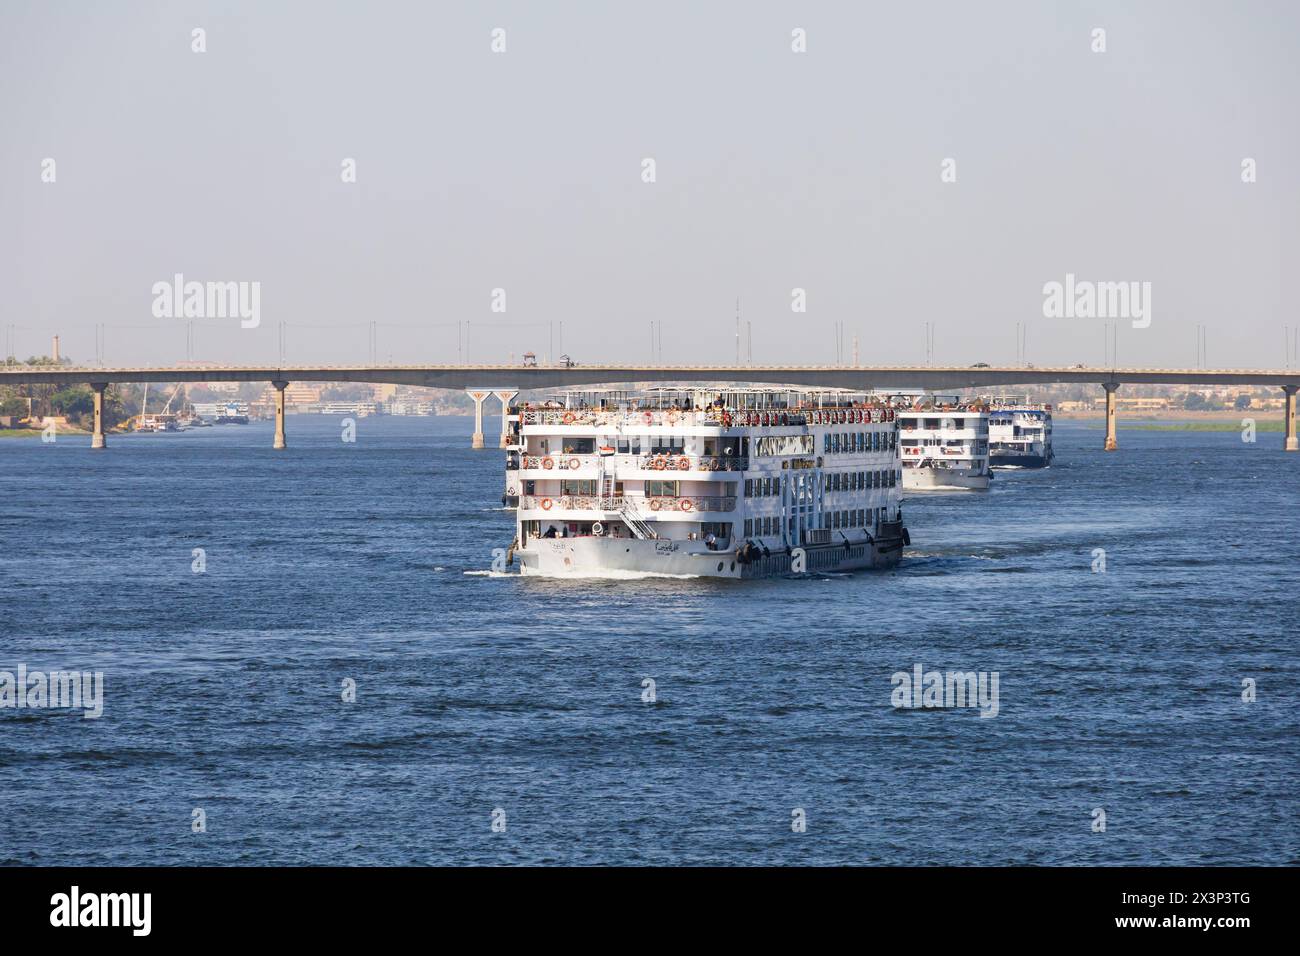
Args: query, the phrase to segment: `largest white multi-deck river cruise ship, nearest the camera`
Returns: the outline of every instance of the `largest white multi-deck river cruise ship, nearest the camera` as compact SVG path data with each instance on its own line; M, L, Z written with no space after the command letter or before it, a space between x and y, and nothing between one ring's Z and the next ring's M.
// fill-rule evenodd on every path
M763 578L890 567L896 410L801 389L568 393L512 410L523 574Z

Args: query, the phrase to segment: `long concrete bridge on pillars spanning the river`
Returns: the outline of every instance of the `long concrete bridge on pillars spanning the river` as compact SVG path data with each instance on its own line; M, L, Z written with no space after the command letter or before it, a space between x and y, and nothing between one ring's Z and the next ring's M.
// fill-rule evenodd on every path
M1140 385L1273 385L1286 397L1283 447L1296 441L1300 371L1254 368L1035 368L1032 365L216 365L101 368L6 365L0 385L88 384L95 392L92 447L104 447L104 389L114 382L270 382L276 395L274 447L285 447L285 388L291 381L370 382L465 389L474 399L474 447L482 447L482 405L495 394L507 406L520 389L555 389L628 382L746 382L854 390L982 389L1005 385L1084 382L1106 393L1108 451L1115 440L1115 392Z

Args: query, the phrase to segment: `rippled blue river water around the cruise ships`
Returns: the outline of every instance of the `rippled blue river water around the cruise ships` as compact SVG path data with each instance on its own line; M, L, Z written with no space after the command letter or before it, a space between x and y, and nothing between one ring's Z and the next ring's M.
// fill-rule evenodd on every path
M1278 433L1058 421L909 498L894 572L720 583L488 574L468 432L0 440L0 671L104 675L99 719L0 709L0 862L1300 862ZM915 665L997 715L893 708Z

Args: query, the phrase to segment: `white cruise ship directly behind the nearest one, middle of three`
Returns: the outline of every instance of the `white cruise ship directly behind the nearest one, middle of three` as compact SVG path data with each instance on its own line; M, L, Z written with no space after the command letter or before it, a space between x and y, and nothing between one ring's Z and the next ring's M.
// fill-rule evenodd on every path
M989 415L983 407L945 405L900 411L905 492L984 490L989 470Z

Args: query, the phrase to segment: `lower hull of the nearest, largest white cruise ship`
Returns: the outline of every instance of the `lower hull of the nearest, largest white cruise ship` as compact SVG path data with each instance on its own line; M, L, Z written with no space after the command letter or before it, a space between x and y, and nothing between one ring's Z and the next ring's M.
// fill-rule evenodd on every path
M534 538L514 553L520 574L546 578L602 575L671 575L682 578L781 578L792 574L833 574L894 567L907 533L901 522L887 524L875 540L838 545L807 545L789 554L744 561L734 548L711 551L698 541L658 541L611 537ZM800 554L802 551L802 555ZM802 563L802 567L800 567Z

